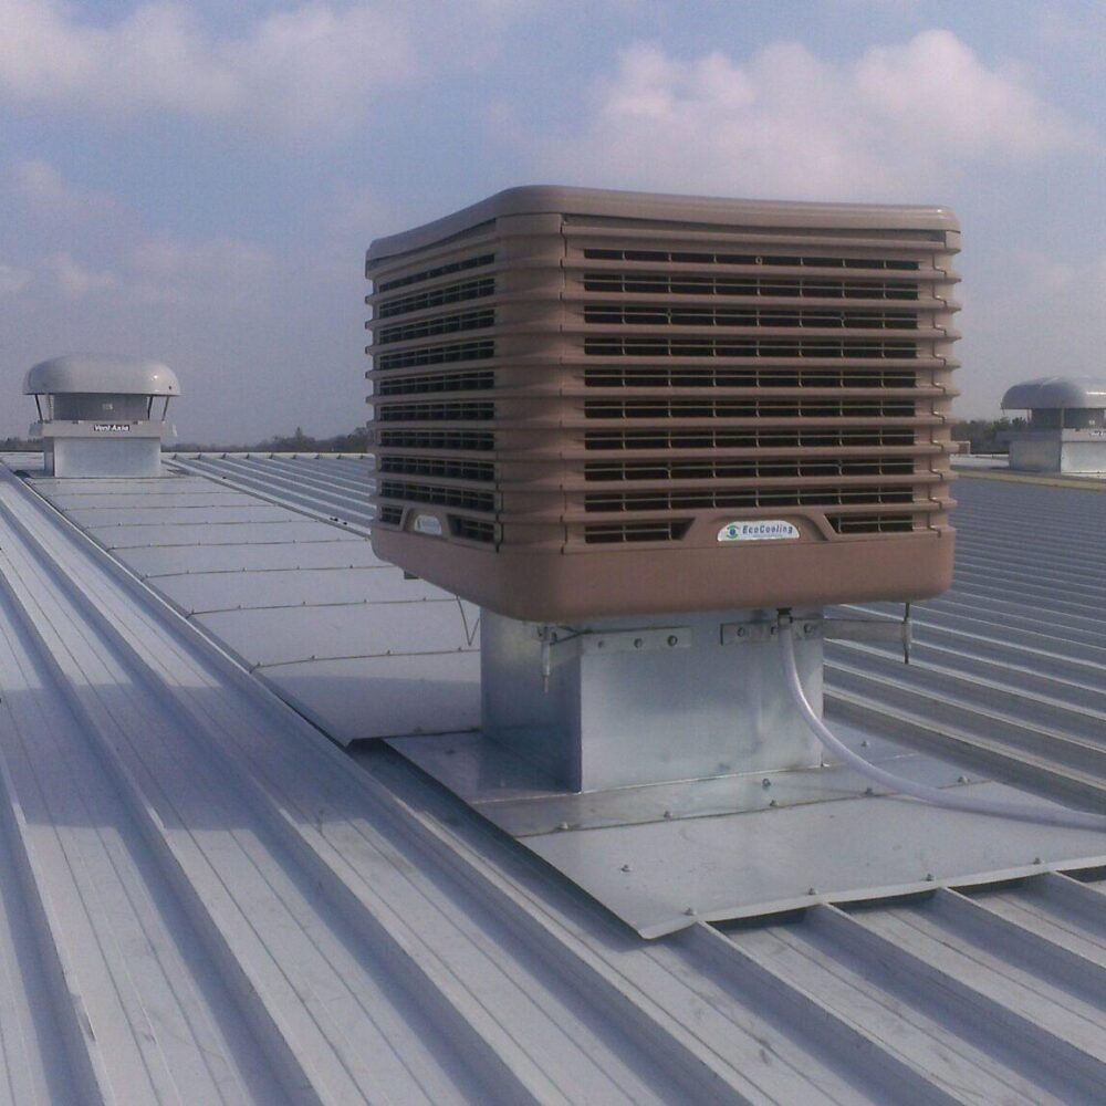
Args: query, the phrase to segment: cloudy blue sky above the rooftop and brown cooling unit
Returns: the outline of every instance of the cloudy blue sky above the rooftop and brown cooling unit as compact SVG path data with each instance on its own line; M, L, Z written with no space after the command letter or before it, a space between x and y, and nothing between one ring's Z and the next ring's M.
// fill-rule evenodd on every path
M1106 0L0 0L0 437L75 352L347 432L368 243L522 184L950 206L995 417L1106 375L1104 127Z

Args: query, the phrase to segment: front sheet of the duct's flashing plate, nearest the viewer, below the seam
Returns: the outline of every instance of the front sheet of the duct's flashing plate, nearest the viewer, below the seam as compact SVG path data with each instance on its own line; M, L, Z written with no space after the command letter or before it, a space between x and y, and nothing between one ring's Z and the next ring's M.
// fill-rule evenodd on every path
M997 783L964 790L1025 800ZM995 883L1063 869L1076 858L1082 867L1106 863L1106 838L1095 831L964 814L902 797L555 832L525 844L643 937L697 920Z

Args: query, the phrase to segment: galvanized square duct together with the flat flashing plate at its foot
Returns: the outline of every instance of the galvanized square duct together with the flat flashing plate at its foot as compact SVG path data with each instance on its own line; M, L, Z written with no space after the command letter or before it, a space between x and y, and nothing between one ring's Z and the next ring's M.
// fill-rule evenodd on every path
M824 638L909 650L905 619L793 614L820 709ZM774 613L565 628L484 612L481 675L483 733L392 744L646 937L1106 859L1099 833L938 810L825 764L784 688ZM1009 791L831 723L896 775Z

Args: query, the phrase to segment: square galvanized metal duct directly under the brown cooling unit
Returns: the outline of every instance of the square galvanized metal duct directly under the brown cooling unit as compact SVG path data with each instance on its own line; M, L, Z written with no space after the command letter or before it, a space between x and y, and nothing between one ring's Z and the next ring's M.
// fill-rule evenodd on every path
M822 701L821 611L795 612ZM816 765L784 685L775 613L728 611L540 626L481 613L487 738L550 789L603 791Z

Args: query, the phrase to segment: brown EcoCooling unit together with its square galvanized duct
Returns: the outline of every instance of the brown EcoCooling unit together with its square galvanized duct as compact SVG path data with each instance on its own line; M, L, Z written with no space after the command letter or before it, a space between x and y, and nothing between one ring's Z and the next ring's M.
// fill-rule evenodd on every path
M482 608L486 734L570 790L817 762L769 624L821 703L824 606L950 582L958 243L557 187L373 243L373 546Z

